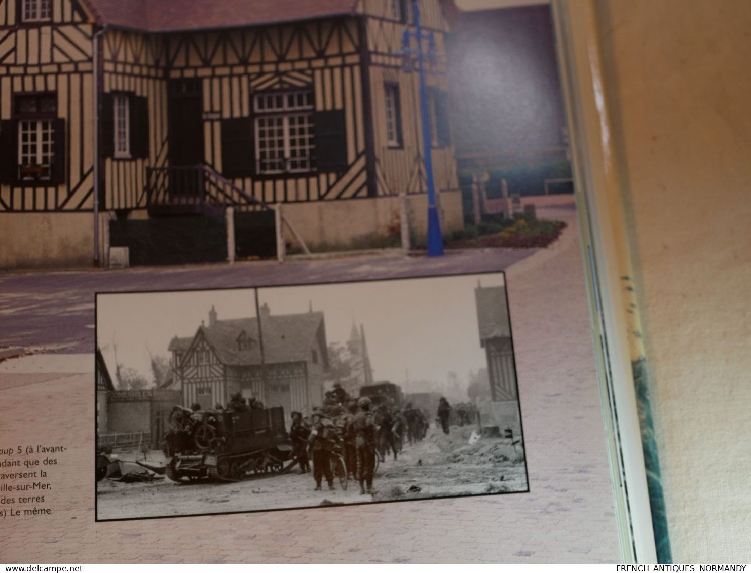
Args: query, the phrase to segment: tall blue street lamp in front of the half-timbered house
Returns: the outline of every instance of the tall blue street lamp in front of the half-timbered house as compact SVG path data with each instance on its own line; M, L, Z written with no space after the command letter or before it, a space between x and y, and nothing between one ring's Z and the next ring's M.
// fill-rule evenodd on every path
M416 56L418 72L420 74L420 111L422 116L423 153L425 155L425 173L427 176L427 255L440 257L443 255L443 237L441 235L441 221L436 207L436 183L433 181L433 157L430 145L430 119L428 119L427 89L425 89L424 61L426 54L422 44L428 41L427 56L433 59L436 56L436 41L433 32L423 32L420 27L420 9L417 2L412 2L412 10L415 16L415 32L410 32L409 27L402 36L402 69L407 74L413 71L412 56ZM416 48L412 48L412 38L417 40Z

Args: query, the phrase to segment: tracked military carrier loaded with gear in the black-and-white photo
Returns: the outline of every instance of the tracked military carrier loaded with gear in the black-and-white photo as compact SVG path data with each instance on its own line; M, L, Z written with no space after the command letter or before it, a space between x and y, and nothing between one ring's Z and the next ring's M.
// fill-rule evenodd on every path
M294 464L284 409L179 412L167 434L167 477L240 481L285 472Z

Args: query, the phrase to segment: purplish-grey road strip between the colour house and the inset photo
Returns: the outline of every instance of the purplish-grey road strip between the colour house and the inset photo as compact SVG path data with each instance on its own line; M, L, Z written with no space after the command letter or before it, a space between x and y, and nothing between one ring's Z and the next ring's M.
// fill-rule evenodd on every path
M399 254L315 261L252 262L125 270L0 274L0 346L44 353L91 352L94 294L391 279L505 269L538 249L447 251L440 258Z

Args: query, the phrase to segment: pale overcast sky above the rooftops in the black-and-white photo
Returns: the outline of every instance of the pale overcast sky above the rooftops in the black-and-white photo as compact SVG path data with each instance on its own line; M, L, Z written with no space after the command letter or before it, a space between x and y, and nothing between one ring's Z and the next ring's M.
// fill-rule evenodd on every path
M400 383L445 381L457 372L466 381L470 369L485 366L478 337L475 288L503 284L501 273L303 285L259 289L261 305L272 315L324 312L328 342L345 342L354 322L363 324L374 378ZM252 288L169 293L100 294L97 337L114 372L113 342L123 366L149 381L149 350L168 356L173 336L193 336L201 320L209 322L214 305L219 320L255 316Z

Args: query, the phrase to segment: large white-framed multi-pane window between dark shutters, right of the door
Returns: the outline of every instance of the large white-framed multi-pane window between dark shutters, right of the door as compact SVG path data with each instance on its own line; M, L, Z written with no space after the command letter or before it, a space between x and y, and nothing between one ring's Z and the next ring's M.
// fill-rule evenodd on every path
M313 169L313 107L310 91L255 95L258 173L301 173Z

